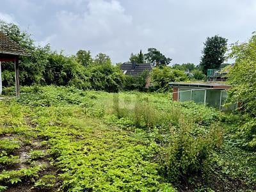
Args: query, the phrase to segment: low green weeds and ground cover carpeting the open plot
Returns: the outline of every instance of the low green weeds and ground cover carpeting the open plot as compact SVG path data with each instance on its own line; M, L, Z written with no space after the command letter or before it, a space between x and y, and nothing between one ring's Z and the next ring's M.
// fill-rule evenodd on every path
M215 109L164 93L21 92L0 101L0 191L209 191L214 174L243 184L231 191L253 189L255 154L232 145Z

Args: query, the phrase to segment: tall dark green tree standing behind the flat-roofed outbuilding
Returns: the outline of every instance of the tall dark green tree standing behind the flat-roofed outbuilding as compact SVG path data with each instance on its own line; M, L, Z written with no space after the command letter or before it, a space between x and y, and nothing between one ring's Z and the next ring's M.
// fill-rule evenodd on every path
M207 74L209 68L220 68L221 63L225 61L225 52L227 51L227 38L215 35L207 37L204 43L203 56L201 57L200 67L204 74Z

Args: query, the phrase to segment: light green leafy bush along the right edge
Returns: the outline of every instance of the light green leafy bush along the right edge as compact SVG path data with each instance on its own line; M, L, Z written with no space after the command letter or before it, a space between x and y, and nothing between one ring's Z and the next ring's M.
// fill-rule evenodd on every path
M235 60L234 67L228 73L228 90L230 102L241 102L241 113L249 116L246 123L241 126L237 134L242 138L244 147L256 149L256 35L243 44L232 46L230 58Z

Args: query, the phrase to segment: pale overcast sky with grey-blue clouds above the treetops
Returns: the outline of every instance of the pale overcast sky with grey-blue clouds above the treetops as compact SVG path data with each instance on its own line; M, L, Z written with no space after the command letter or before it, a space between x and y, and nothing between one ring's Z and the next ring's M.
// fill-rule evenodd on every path
M104 52L117 63L156 47L172 64L197 65L207 36L218 34L232 44L256 31L256 1L1 0L0 19L66 54Z

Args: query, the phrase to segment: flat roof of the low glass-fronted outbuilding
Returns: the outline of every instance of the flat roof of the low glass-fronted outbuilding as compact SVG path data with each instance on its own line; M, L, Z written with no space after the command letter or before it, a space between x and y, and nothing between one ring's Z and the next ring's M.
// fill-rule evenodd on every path
M186 83L186 82L179 82L179 83L170 83L172 87L182 87L182 88L212 88L212 89L219 89L219 90L227 90L230 88L230 85L224 84L223 82L201 82L201 83Z

